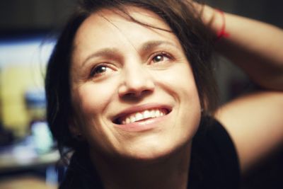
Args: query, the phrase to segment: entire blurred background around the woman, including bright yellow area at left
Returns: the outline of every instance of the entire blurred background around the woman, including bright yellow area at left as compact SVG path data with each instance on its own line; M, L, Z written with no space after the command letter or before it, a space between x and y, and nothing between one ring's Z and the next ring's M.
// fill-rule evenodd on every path
M57 188L64 168L45 122L45 66L76 0L0 0L0 188ZM283 28L282 0L207 0L216 8ZM223 57L221 103L253 84ZM241 188L283 188L282 150L262 160Z

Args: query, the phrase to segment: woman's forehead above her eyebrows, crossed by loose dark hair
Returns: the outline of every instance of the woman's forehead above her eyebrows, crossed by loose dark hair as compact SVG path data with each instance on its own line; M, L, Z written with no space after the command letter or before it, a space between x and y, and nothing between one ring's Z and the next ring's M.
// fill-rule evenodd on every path
M156 13L132 6L127 6L125 10L139 23L117 9L96 11L79 27L74 50L82 52L82 48L83 51L91 48L94 51L129 44L138 48L146 40L167 40L180 45L171 28Z

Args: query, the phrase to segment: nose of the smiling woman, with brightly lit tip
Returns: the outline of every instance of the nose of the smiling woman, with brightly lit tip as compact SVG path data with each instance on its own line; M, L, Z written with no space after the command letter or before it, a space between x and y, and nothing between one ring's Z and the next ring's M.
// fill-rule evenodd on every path
M143 65L133 65L124 69L122 82L118 89L119 96L139 98L154 91L154 80Z

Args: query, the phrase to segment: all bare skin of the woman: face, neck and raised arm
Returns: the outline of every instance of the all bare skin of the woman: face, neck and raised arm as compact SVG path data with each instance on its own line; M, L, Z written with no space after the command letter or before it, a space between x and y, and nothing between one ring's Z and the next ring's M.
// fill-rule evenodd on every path
M137 20L170 30L154 13L129 9ZM219 40L216 49L262 86L262 91L241 96L214 115L231 135L244 172L282 144L283 32L265 23L224 16L229 38ZM203 20L215 34L223 24L219 11L208 6ZM156 40L163 45L156 45ZM102 10L83 22L74 46L71 95L78 116L70 129L91 145L93 164L106 188L185 188L200 101L178 39ZM105 48L108 53L93 56ZM105 67L93 71L100 63ZM121 113L146 108L165 109L168 115L142 124L115 124Z

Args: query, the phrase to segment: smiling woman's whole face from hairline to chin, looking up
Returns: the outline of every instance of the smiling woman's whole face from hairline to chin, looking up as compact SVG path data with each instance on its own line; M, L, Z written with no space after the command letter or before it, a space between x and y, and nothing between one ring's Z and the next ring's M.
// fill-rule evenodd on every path
M128 7L138 21L171 30L155 13ZM81 132L96 155L156 159L189 144L200 99L178 38L103 9L74 40L71 96Z

